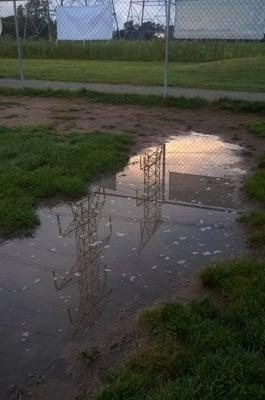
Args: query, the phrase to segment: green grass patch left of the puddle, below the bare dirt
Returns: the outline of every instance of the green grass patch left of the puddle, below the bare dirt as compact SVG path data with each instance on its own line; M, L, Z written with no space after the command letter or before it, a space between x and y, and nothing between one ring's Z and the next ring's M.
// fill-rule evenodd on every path
M127 161L130 136L54 133L51 127L0 126L0 233L31 233L47 199L85 195L96 175Z

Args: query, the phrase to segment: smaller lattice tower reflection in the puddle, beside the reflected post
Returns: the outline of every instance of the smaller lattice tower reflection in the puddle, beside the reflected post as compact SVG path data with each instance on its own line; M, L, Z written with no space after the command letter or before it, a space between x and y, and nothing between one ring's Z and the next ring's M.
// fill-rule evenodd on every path
M161 209L163 200L164 160L165 147L148 150L140 159L140 168L144 174L144 189L139 195L137 192L136 205L143 206L144 216L140 225L139 253L147 245L161 225Z

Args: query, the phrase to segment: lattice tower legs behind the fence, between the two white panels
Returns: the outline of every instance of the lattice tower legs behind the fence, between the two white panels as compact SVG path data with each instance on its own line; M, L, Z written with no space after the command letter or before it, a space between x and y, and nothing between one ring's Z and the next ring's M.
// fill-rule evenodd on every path
M151 21L166 24L167 0L130 0L127 22L142 25Z

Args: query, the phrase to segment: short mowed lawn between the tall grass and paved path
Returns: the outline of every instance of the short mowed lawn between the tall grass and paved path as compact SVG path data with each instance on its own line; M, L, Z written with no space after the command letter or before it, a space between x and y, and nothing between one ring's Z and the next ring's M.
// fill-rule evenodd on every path
M25 78L73 82L161 85L160 62L40 60L24 61ZM0 59L0 77L18 77L16 59ZM172 86L265 91L265 56L196 64L170 63Z

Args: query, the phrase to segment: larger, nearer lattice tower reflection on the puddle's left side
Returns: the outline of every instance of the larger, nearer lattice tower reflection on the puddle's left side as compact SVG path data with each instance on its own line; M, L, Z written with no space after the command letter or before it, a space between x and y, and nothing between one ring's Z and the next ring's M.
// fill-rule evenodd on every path
M98 240L98 227L105 203L99 190L90 191L85 201L72 207L73 221L64 232L64 236L75 235L77 260L56 289L62 290L72 281L78 279L80 306L77 318L70 313L70 320L76 326L75 334L84 336L102 314L110 290L107 289L106 272L104 271L103 254L105 245L112 235L111 220L107 224L109 233Z

